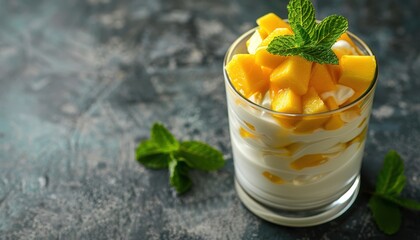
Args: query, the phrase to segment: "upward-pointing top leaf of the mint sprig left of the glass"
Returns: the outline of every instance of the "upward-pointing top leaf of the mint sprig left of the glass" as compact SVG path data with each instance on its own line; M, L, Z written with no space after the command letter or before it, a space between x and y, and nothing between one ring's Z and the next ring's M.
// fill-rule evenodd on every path
M172 152L179 148L179 142L162 124L153 124L150 140L159 147L162 152Z

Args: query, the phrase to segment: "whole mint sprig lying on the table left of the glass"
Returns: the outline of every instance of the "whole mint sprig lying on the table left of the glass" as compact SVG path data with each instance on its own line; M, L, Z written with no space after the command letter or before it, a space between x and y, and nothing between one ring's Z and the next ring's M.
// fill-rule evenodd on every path
M178 193L191 188L190 169L214 171L225 164L215 148L199 141L179 142L159 123L153 124L150 139L139 143L136 159L147 168L169 168L169 183Z

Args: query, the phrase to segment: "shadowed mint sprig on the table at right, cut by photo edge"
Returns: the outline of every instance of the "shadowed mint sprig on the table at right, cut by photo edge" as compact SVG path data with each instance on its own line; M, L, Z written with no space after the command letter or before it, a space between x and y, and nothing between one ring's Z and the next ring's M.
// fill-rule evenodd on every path
M400 196L405 184L404 162L397 152L391 150L385 156L376 190L369 200L376 225L386 234L394 234L400 229L400 207L420 210L420 202Z

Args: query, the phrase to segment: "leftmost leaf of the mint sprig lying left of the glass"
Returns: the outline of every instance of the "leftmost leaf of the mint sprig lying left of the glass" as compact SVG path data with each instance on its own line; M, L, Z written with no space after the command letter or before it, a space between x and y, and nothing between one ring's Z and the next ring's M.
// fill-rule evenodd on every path
M153 142L146 140L136 149L136 159L147 168L167 168L169 155L163 153Z

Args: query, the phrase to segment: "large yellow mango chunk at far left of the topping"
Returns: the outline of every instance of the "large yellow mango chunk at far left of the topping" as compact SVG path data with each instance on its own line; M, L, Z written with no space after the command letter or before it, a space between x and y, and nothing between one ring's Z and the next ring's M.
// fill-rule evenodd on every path
M235 89L245 97L268 89L269 80L264 76L261 67L255 63L254 55L234 55L226 65L226 72Z

